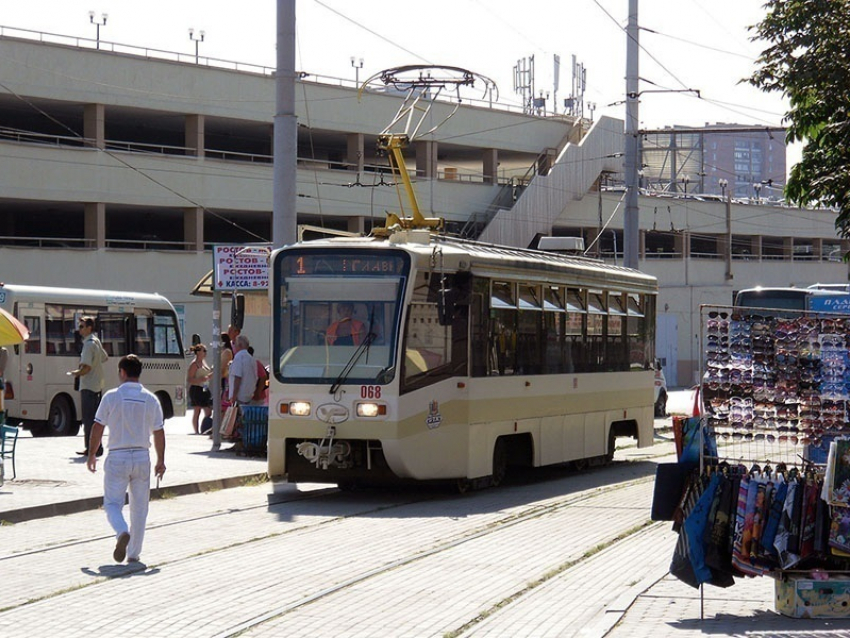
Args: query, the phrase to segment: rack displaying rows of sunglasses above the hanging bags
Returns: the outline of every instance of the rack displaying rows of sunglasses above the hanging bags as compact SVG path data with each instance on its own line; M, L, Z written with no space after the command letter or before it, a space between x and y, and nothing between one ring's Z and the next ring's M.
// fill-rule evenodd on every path
M770 312L702 309L704 433L727 461L823 464L850 435L850 317Z

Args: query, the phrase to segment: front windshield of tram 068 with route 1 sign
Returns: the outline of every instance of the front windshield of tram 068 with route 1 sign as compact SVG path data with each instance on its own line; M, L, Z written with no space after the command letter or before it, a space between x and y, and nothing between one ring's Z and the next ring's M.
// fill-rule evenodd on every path
M275 373L284 383L390 382L409 260L293 250L277 264Z

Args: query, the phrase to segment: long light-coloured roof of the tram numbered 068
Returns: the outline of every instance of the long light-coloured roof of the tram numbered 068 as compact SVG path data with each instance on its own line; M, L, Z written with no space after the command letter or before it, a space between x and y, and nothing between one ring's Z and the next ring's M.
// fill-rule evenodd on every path
M435 250L442 254L443 268L466 269L489 276L522 275L528 280L548 280L552 275L569 277L576 285L619 286L642 291L657 291L658 282L647 273L615 266L600 259L580 255L563 255L531 248L500 246L424 231L397 233L389 239L374 237L331 237L298 242L289 248L377 248L403 249L420 258L431 259ZM440 264L434 266L440 269Z

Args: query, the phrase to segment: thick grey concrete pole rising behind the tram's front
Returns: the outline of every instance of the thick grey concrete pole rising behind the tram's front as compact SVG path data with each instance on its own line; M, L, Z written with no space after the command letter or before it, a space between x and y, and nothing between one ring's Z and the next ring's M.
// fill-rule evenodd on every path
M277 76L274 115L274 186L272 242L275 248L297 237L295 116L295 0L277 0Z

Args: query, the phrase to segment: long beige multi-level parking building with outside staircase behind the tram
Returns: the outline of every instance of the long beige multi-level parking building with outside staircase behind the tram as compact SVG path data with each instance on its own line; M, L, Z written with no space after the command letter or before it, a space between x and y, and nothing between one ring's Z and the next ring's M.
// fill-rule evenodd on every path
M211 246L272 236L272 69L16 36L0 36L2 279L156 291L206 339L211 306L190 291ZM375 141L401 98L308 74L296 94L299 223L368 232L398 212ZM434 121L452 108L435 104ZM581 234L588 254L621 260L623 123L587 124L464 101L409 149L423 214L510 245ZM828 211L649 191L639 204L639 266L659 279L671 384L696 380L699 304L847 280L838 256L850 246ZM263 358L268 319L249 312Z

